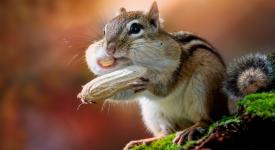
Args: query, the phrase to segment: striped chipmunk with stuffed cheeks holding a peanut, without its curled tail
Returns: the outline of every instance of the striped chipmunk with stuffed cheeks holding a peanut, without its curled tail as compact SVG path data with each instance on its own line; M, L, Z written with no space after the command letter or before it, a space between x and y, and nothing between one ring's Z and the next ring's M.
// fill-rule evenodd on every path
M173 142L181 144L229 113L222 89L231 92L231 81L225 81L221 55L194 34L164 31L156 2L148 12L121 8L105 25L104 37L86 50L86 61L99 76L130 65L148 70L132 89L111 97L114 101L137 100L144 124L154 135L131 141L124 149L174 132Z

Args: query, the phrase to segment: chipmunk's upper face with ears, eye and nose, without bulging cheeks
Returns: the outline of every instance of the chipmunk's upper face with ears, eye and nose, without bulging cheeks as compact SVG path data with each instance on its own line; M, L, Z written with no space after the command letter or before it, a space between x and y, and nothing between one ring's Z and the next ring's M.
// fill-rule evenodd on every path
M104 27L106 52L114 57L129 57L132 49L154 38L160 28L159 11L154 2L149 12L126 11L121 8Z

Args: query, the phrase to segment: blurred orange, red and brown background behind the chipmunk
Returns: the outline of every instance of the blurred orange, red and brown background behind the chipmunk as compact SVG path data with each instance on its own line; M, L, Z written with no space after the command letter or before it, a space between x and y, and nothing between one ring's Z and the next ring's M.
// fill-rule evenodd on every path
M1 0L0 149L108 150L150 137L135 104L82 105L85 49L120 7L151 0ZM275 52L275 0L158 0L168 31L196 33L228 63Z

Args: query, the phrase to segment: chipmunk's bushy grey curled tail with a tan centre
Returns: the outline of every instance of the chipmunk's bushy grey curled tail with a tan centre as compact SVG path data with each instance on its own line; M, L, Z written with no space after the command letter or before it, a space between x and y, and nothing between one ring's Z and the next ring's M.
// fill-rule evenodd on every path
M239 100L247 94L275 87L275 53L250 54L234 60L227 68L224 92Z

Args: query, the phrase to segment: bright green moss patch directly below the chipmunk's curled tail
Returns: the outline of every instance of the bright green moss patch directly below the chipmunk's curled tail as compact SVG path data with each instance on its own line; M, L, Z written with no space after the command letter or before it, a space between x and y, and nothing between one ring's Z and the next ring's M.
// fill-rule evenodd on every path
M275 94L258 93L246 96L238 103L246 113L275 121Z

